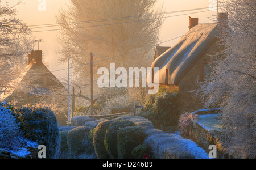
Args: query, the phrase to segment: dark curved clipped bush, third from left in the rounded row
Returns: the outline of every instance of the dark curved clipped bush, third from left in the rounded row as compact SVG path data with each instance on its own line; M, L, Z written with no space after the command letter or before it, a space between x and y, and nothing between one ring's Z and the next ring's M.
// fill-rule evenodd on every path
M105 148L109 153L111 159L118 158L117 152L117 133L119 128L125 128L127 126L135 126L135 124L131 121L127 120L118 120L109 125L106 130L105 136Z

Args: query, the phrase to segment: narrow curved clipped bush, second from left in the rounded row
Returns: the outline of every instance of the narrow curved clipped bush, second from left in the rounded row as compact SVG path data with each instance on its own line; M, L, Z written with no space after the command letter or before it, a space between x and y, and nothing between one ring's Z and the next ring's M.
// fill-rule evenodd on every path
M112 124L112 120L106 120L100 122L96 127L93 135L93 146L96 152L96 155L100 159L108 159L109 154L105 148L104 139L106 135L106 130L108 129L109 125Z

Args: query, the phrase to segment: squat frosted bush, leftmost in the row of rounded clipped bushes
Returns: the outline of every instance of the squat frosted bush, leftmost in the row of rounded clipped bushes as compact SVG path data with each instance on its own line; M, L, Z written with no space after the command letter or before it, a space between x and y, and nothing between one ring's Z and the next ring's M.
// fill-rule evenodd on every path
M92 143L88 140L90 130L87 126L80 126L68 132L68 148L72 155L92 152Z

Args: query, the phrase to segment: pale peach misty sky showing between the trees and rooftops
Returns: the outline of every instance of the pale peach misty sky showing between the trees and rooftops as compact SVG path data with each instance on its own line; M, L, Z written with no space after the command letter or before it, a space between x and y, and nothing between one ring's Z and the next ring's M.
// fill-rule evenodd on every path
M9 1L9 3L10 5L14 5L18 1L19 0L11 0ZM17 18L23 20L23 22L27 23L27 25L56 23L55 15L58 14L58 11L60 8L65 8L66 3L67 4L69 3L68 0L66 1L65 0L53 0L53 1L46 0L46 11L39 11L38 6L40 1L43 1L43 0L22 0L22 2L24 2L25 4L17 6L17 9L18 9ZM2 3L5 3L5 2L6 1L2 0ZM208 7L212 2L213 0L193 0L193 1L192 0L180 0L180 1L159 0L156 5L156 8L161 7L163 5L163 8L166 12L180 11L180 10L189 10L193 8ZM197 12L197 11L169 14L167 16L187 14L190 12ZM213 18L214 16L212 15L217 15L216 13L217 13L216 11L209 10L208 12L203 12L199 14L191 14L191 16L199 17L199 23L212 23L213 21L210 20L209 18ZM188 15L167 18L161 29L160 40L167 41L170 39L174 39L175 37L184 35L188 31L188 25L189 25ZM46 28L46 29L49 29L49 28ZM54 27L53 29L57 29L57 27ZM43 29L42 28L33 29L32 31L40 31L40 30L43 30ZM56 35L57 35L57 31L33 33L33 36L36 37L36 39L43 39L43 42L40 43L40 50L43 50L43 53L44 53L43 61L44 63L47 63L49 65L49 69L51 71L67 68L67 65L58 65L59 56L58 54L56 54L56 50L60 48L60 45L57 42ZM172 46L177 41L179 41L179 39L166 42L164 44L161 44L161 46ZM37 49L37 47L35 47L35 49ZM152 56L154 56L154 54L152 54ZM60 71L53 74L55 74L57 78L63 78L67 74L67 71Z

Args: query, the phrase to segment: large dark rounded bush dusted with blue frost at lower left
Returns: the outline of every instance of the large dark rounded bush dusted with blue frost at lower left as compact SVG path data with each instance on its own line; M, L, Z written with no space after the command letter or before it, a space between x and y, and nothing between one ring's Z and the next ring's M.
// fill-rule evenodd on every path
M15 109L24 137L45 145L47 158L57 158L60 132L55 113L47 107L22 107Z

